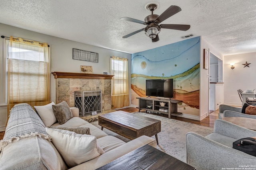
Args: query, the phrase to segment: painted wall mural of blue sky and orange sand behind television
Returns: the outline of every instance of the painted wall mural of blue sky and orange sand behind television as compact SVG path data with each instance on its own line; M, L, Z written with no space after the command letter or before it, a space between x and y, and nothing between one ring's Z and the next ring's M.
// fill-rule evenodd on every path
M146 79L174 79L178 111L199 116L200 37L132 54L131 102L146 96Z

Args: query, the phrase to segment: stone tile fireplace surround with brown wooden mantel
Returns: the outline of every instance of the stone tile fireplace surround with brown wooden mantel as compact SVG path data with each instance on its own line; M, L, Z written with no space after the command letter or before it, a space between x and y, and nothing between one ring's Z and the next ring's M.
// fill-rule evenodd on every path
M101 91L102 111L111 109L111 79L114 75L71 72L52 74L56 79L56 104L65 100L70 107L75 107L74 92Z

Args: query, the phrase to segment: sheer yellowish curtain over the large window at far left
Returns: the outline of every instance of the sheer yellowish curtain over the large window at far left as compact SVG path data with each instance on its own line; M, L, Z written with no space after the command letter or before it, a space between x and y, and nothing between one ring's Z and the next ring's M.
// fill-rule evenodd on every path
M18 103L32 107L50 103L48 44L11 36L6 57L8 115Z

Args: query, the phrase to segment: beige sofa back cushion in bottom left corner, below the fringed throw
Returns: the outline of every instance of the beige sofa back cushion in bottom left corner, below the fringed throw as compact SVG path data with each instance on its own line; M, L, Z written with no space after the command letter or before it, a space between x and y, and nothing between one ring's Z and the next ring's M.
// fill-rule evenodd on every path
M59 152L50 141L39 137L14 140L0 154L1 170L66 170Z

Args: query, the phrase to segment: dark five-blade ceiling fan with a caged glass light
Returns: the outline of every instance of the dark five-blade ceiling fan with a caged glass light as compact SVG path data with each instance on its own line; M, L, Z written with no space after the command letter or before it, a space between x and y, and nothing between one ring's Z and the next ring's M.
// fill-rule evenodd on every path
M156 10L157 4L149 4L146 6L148 10L151 11L151 15L146 16L144 21L136 20L133 18L128 18L128 17L123 17L121 20L124 21L130 21L130 22L136 22L136 23L142 23L144 25L147 25L145 28L139 29L137 31L134 31L132 33L129 33L123 38L130 37L136 33L139 33L140 31L145 31L145 34L152 39L152 42L159 41L158 34L160 33L161 28L166 28L166 29L176 29L180 31L187 31L190 29L190 25L182 25L182 24L160 24L162 21L166 20L167 18L173 16L174 14L177 14L178 12L181 11L181 8L178 6L170 6L167 10L165 10L160 16L153 14L153 11Z

